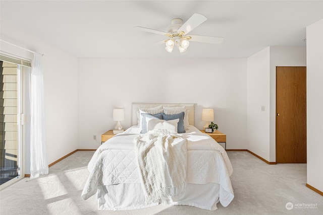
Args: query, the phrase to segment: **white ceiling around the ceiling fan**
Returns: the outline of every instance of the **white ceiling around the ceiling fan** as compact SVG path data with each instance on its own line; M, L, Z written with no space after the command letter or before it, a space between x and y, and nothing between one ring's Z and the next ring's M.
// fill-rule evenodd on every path
M248 57L267 46L304 46L306 27L323 19L323 1L0 1L1 35L15 29L77 57ZM174 18L194 13L207 20L191 31L220 36L222 44L191 42L188 53L143 48ZM14 26L14 27L13 27ZM16 37L16 38L15 38Z

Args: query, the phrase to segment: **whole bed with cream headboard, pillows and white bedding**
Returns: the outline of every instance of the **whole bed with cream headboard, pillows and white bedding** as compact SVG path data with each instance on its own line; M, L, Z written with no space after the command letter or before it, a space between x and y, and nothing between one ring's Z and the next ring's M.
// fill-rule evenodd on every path
M147 110L151 112L146 113ZM154 116L157 117L158 114L160 115L160 110L164 117L171 117L171 119L153 118ZM194 114L195 104L191 103L133 103L131 114L133 125L123 133L117 134L104 142L91 158L88 164L90 174L81 195L82 199L86 200L96 194L98 209L101 210L139 209L157 204L190 205L215 210L218 202L225 207L228 206L234 198L230 181L233 172L232 165L223 147L194 126ZM179 119L172 119L172 117L178 115L180 115ZM183 118L181 118L182 116ZM183 120L181 121L181 119ZM153 127L151 127L151 123ZM173 189L175 192L172 194L170 194L172 191L169 191L171 190L169 189L167 195L165 195L164 190L164 195L148 198L147 192L149 190L147 191L147 187L151 188L148 181L151 181L149 177L142 173L140 164L146 164L149 160L144 160L146 163L140 159L138 161L140 155L138 152L140 151L137 147L143 146L138 144L138 141L146 138L149 133L155 134L161 131L169 133L171 128L164 129L163 123L166 123L167 126L176 125L175 130L180 132L171 132L173 136L168 144L174 146L174 149L177 146L185 147L184 151L181 149L177 152L178 154L175 154L176 158L181 159L183 157L185 168L182 172L181 169L176 169L175 172L169 173L169 178L173 184L176 180L180 180L184 182L184 185ZM180 131L180 129L182 130ZM142 132L143 130L144 132ZM175 145L173 141L178 141L179 144ZM173 149L172 147L170 149ZM153 159L157 160L157 158ZM174 160L175 162L178 166L178 161ZM168 165L175 166L174 164ZM149 173L156 168L151 167L149 169L149 167L147 170L150 171ZM157 168L159 167L157 166ZM167 169L167 171L160 172L170 171Z

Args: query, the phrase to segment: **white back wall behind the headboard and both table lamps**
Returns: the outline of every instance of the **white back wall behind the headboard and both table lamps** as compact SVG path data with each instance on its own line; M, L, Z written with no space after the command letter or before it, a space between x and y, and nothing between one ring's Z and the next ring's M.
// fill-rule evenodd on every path
M227 134L227 149L246 149L246 58L79 59L78 148L96 149L100 135L113 129L113 108L125 108L131 125L133 102L196 103L214 108L214 121ZM97 141L93 140L97 135Z

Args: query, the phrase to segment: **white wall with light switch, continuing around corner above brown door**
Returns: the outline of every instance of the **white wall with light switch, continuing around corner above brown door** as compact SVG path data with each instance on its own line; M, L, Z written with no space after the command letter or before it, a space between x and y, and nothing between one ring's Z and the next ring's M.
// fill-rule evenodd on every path
M276 162L276 66L306 66L306 47L271 46L247 61L248 150Z

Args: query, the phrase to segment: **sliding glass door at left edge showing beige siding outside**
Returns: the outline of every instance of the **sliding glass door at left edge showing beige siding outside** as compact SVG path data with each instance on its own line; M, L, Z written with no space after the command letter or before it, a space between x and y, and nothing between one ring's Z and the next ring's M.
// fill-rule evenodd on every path
M23 67L0 61L0 188L23 174Z

